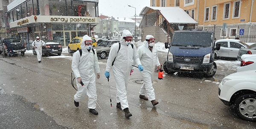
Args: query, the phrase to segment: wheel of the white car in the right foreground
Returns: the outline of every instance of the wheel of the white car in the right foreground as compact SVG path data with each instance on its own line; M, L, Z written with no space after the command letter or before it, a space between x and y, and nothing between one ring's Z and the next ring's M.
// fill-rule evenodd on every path
M243 120L256 121L256 95L242 95L235 101L235 112Z

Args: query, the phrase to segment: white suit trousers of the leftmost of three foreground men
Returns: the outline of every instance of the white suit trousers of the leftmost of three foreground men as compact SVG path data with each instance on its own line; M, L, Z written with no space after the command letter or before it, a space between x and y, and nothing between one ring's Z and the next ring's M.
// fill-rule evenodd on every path
M95 109L96 108L96 100L97 100L97 94L96 94L96 83L95 83L95 77L91 80L82 80L84 83L84 86L81 86L80 83L76 80L76 86L77 86L77 92L74 95L74 100L76 102L82 101L85 98L85 95L88 96L88 108L89 109ZM88 90L86 90L86 88ZM90 93L89 93L90 92ZM94 98L94 99L93 99Z

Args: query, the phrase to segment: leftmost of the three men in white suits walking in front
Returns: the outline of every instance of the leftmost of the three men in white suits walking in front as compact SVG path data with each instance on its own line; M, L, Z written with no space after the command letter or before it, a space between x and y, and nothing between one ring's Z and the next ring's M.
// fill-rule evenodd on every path
M81 55L79 50L73 53L71 67L76 77L76 86L78 88L74 95L74 104L76 107L79 107L79 101L82 101L85 95L87 95L89 112L98 115L98 112L95 110L97 94L94 70L97 73L97 79L99 79L100 69L97 53L96 51L93 53L92 44L92 39L88 35L84 35L80 45Z

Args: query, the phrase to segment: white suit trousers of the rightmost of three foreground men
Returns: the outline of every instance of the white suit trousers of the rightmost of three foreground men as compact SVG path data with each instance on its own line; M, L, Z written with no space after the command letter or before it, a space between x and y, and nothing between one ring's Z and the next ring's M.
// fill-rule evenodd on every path
M152 85L152 77L151 73L148 73L146 71L141 71L141 74L143 76L143 85L140 87L140 95L148 95L148 100L152 101L155 100L155 94L154 94L154 88Z

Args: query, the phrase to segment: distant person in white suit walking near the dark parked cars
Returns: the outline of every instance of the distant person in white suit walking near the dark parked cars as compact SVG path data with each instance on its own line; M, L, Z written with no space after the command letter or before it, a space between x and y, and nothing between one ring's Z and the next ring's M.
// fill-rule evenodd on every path
M35 52L37 55L38 63L41 63L41 57L42 57L42 47L45 45L45 42L40 40L40 38L37 36L35 41L32 42L33 48L35 48Z

